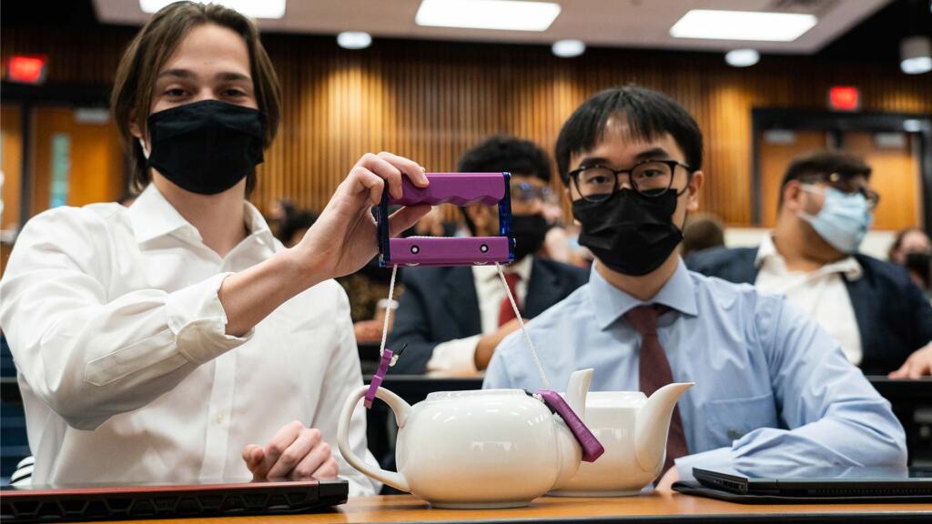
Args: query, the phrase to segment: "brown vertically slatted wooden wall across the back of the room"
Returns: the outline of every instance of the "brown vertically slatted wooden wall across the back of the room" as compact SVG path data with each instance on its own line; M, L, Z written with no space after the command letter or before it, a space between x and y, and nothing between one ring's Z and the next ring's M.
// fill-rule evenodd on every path
M0 54L45 53L50 82L102 83L132 34L4 28ZM493 133L552 151L586 96L635 82L665 91L696 117L706 138L702 207L747 226L752 108L822 109L829 86L851 84L861 88L864 111L932 114L932 75L905 76L894 62L765 55L739 70L718 53L591 49L565 60L542 47L376 39L372 48L346 51L333 37L267 34L264 41L285 107L253 196L263 209L281 197L321 209L365 151L389 150L435 172L454 170L466 148Z

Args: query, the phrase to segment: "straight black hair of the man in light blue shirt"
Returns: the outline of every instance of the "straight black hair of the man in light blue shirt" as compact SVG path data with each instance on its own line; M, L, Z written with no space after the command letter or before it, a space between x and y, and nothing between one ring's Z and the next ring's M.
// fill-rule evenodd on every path
M702 169L702 131L692 115L661 92L629 85L596 93L563 124L555 157L564 184L569 185L569 158L596 147L610 117L624 117L628 135L635 140L650 141L669 133L690 169Z

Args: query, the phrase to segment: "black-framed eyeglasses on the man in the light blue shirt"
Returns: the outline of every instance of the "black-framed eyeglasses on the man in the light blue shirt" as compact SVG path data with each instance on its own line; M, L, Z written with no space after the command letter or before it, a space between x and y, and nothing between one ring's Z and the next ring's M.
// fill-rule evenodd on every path
M637 162L630 169L613 170L610 167L586 166L569 172L569 178L576 185L583 200L600 202L609 200L624 183L645 197L659 197L673 186L677 166L692 173L692 168L677 160L644 160ZM625 178L619 179L619 175ZM686 191L677 191L677 196Z

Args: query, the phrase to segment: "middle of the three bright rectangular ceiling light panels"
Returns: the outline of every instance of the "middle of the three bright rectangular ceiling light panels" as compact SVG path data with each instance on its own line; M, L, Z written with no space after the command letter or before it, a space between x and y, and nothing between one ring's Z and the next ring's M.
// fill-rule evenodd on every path
M546 31L560 14L553 2L515 0L423 0L415 16L418 25Z

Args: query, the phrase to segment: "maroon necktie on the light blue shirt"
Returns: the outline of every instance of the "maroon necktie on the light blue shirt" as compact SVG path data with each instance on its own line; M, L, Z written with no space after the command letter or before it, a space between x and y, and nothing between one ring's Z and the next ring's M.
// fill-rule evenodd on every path
M647 396L673 382L670 363L666 360L664 348L660 346L660 338L657 338L657 316L665 310L664 306L637 306L624 313L624 318L641 336L637 379L640 381L640 390ZM664 470L657 478L664 476L666 470L673 466L674 459L688 454L689 448L686 446L686 434L683 433L683 421L679 418L679 407L674 407L670 433L666 437Z

